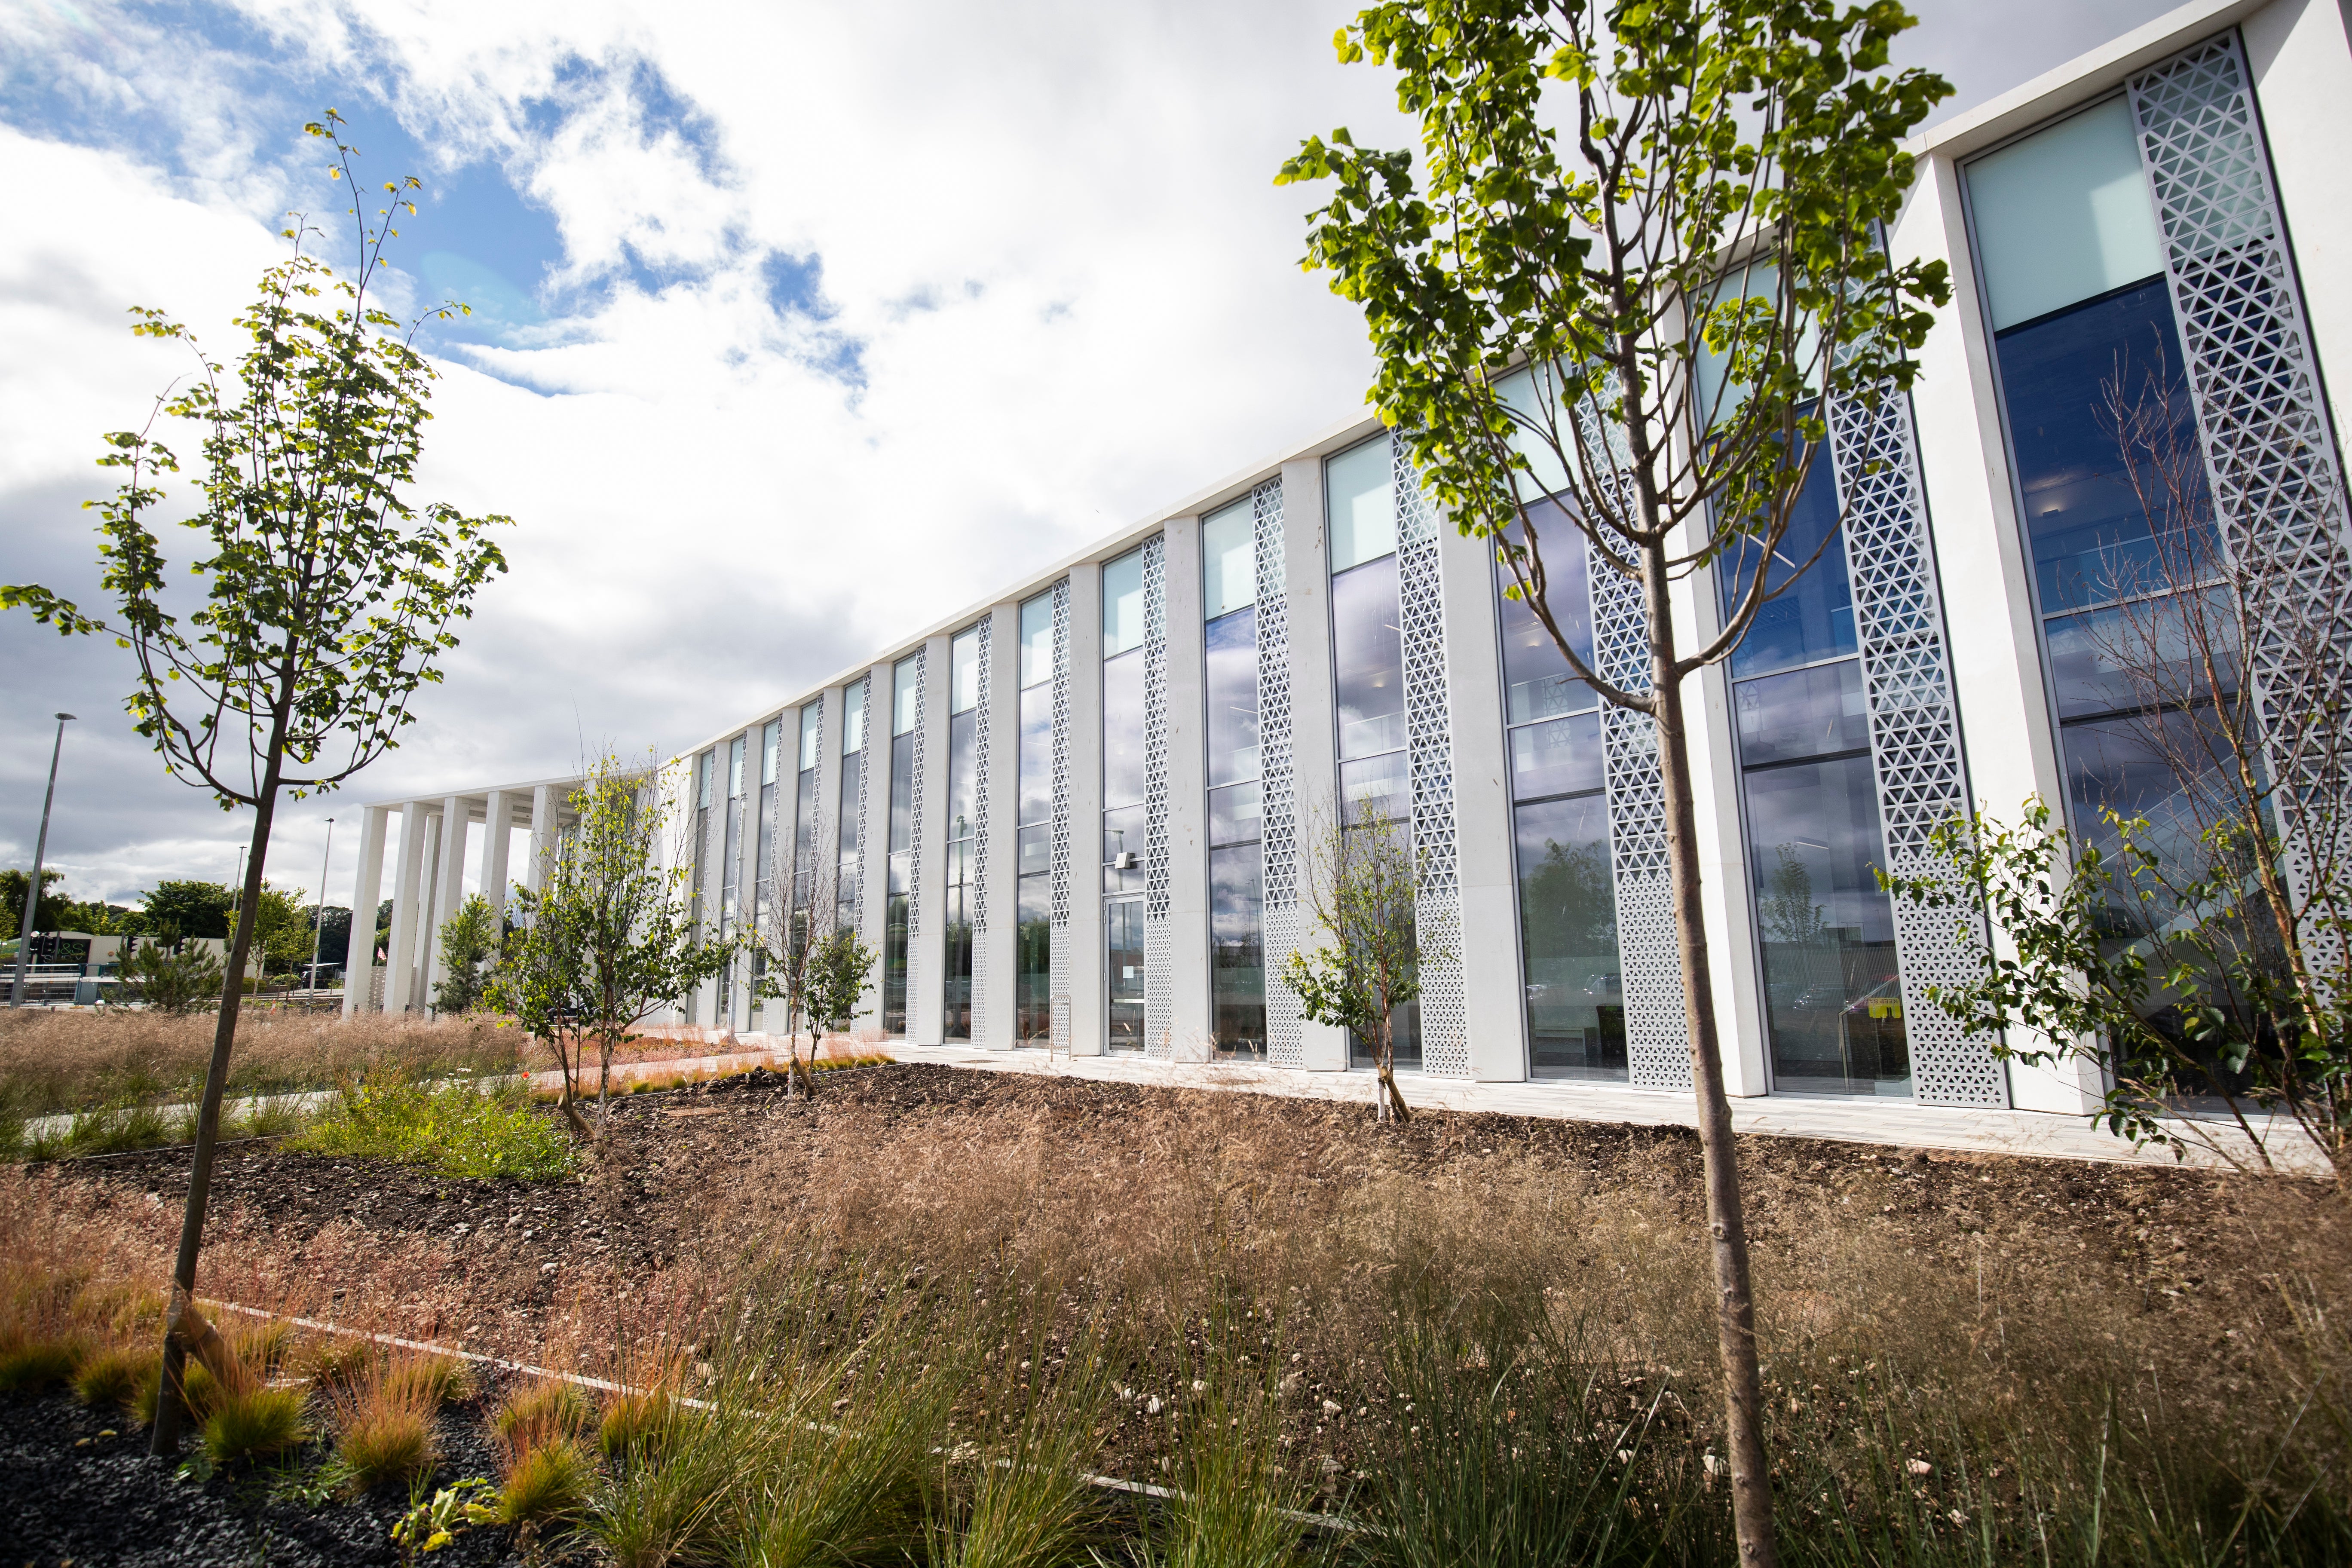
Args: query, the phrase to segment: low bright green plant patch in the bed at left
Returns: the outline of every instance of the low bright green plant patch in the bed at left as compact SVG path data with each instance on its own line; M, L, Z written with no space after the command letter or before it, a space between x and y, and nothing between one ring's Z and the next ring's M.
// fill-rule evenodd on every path
M485 1093L470 1079L419 1084L405 1074L346 1084L294 1147L442 1175L557 1180L576 1166L572 1138L522 1086Z

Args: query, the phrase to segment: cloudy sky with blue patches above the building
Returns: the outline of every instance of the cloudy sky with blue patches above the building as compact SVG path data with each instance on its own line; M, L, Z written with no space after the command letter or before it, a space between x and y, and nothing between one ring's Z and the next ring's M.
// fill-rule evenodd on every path
M1952 113L2161 14L1924 0ZM273 879L350 891L360 799L673 750L1362 407L1301 275L1310 132L1402 146L1345 0L616 5L0 0L0 581L96 597L99 435L230 348L289 209L346 247L322 143L416 174L395 296L463 299L419 498L506 512L447 684ZM186 437L181 449L193 447ZM249 825L129 733L129 656L0 616L0 863L75 896L228 879ZM9 926L14 929L14 926Z

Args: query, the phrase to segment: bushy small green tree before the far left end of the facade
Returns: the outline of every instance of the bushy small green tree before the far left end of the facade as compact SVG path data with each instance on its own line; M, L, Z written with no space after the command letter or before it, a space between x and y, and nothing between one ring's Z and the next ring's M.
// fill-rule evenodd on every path
M506 943L489 1004L546 1044L574 1074L597 1051L597 1107L612 1110L612 1053L647 1016L677 1006L734 957L734 938L706 938L689 898L691 856L663 863L668 795L654 769L604 752L572 792L574 827L534 846L546 867L536 893L515 889L517 929ZM689 818L691 820L691 818Z

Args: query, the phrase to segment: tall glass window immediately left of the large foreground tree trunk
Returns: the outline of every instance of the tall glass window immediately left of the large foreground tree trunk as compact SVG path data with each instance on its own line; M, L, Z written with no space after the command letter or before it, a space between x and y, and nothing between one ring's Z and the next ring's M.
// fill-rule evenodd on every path
M1566 517L1555 522L1545 527L1541 515L1536 522L1545 599L1578 658L1590 661L1585 541ZM1538 1079L1625 1081L1625 994L1599 698L1569 670L1536 611L1503 592L1510 583L1510 569L1496 562L1519 957L1526 973L1526 1070Z

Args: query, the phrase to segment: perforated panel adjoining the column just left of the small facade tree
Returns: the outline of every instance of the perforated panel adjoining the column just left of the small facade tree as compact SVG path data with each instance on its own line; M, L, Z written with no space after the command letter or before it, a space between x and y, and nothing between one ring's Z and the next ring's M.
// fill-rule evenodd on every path
M1298 997L1282 966L1305 936L1298 914L1298 778L1291 764L1291 604L1282 567L1282 480L1249 491L1258 567L1258 790L1263 816L1261 943L1265 952L1265 1060L1303 1067Z

